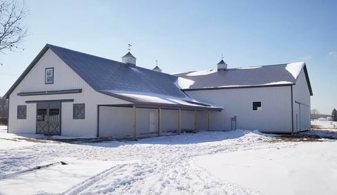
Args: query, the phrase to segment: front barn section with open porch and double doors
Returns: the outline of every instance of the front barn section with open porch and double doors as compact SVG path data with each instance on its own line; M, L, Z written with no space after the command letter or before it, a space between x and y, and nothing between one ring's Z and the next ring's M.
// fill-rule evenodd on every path
M210 127L202 113L222 107L187 96L183 80L137 67L130 52L118 62L47 44L5 94L8 132L137 138Z

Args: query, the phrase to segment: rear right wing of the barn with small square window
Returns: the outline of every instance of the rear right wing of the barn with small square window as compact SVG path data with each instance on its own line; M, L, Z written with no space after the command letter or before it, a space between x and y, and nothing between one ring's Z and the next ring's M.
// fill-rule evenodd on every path
M310 129L313 95L305 63L227 68L175 74L189 79L182 89L200 101L224 107L216 130L294 133Z

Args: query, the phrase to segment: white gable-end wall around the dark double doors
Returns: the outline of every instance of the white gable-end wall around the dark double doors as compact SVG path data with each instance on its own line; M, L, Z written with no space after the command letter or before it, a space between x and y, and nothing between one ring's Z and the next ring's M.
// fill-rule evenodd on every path
M46 85L44 81L45 68L51 67L54 68L54 83ZM82 89L82 92L78 94L17 96L19 92L70 89ZM74 99L73 103L86 104L85 119L73 119L73 103L61 103L62 136L96 136L97 104L128 103L97 93L54 52L48 50L10 94L8 132L34 134L36 132L36 103L26 103L26 101L57 99ZM17 119L17 105L27 105L27 119Z

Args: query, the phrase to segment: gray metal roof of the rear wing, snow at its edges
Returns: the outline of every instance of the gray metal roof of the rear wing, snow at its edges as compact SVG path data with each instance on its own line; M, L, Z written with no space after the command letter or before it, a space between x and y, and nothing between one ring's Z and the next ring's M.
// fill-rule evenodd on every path
M174 74L192 81L189 88L183 90L205 90L214 88L249 88L275 85L293 85L297 77L287 70L289 64L263 65L247 68L229 68L224 71L195 71ZM302 67L309 92L312 95L311 84L305 63Z

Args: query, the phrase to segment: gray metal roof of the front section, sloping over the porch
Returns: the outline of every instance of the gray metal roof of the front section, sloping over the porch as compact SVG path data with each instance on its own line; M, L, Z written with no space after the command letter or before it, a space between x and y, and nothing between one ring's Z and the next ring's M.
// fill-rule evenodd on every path
M194 110L195 108L198 108L198 110L222 109L222 107L200 103L191 99L175 84L177 81L176 76L137 66L129 66L119 61L104 59L49 44L41 50L15 84L12 85L12 88L8 90L5 94L6 98L9 97L10 93L19 85L24 76L28 74L48 49L55 52L64 63L69 65L97 92L115 96L134 104L165 105L166 107L185 110ZM140 95L131 96L130 94L146 94L148 98L139 98ZM157 97L157 99L149 98L151 96ZM171 99L174 100L174 103L166 103L166 100Z

